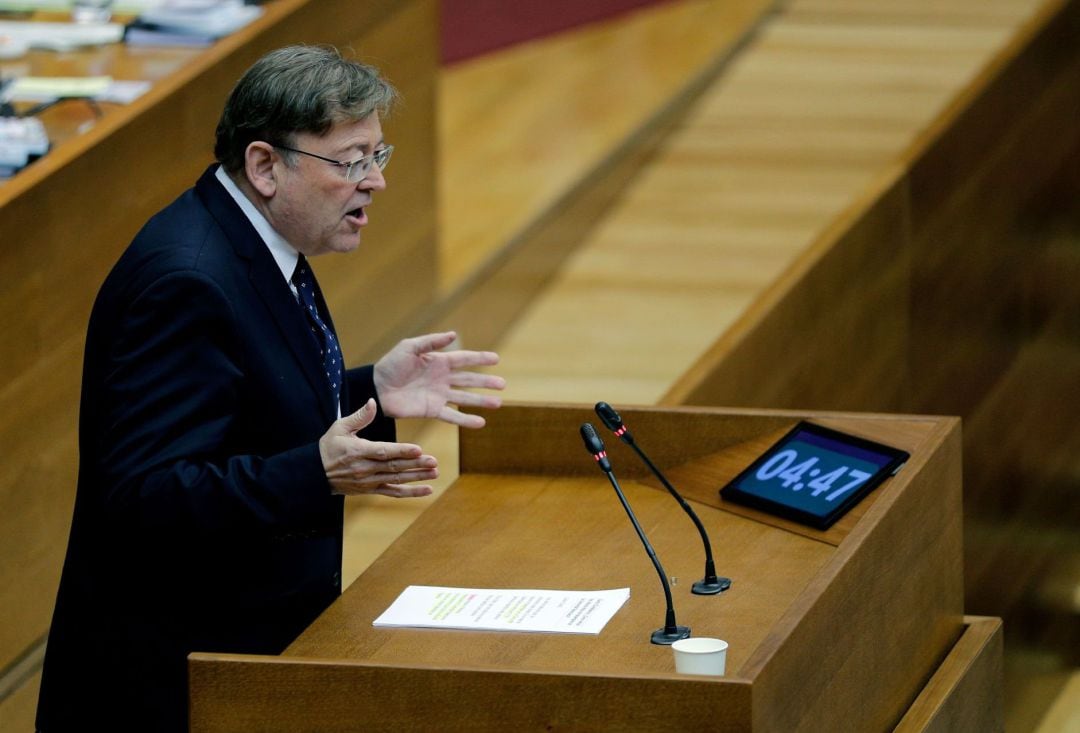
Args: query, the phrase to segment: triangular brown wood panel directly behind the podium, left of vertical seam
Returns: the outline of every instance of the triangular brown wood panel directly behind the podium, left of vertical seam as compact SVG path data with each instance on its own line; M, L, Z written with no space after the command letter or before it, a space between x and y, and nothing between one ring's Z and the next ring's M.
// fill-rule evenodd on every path
M910 390L906 203L903 187L890 186L869 208L863 200L853 204L661 403L904 406Z

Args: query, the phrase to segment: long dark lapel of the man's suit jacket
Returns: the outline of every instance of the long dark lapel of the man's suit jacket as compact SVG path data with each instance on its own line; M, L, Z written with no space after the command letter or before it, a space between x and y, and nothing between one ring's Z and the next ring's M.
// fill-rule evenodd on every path
M337 405L334 404L329 385L326 383L326 374L319 357L319 350L311 339L310 327L303 312L258 232L229 192L214 177L215 167L211 166L202 175L195 184L195 191L232 244L237 256L247 262L248 279L253 288L258 293L282 339L288 344L308 383L318 395L319 408L329 424L337 418ZM318 298L320 307L325 310L321 293L318 294Z

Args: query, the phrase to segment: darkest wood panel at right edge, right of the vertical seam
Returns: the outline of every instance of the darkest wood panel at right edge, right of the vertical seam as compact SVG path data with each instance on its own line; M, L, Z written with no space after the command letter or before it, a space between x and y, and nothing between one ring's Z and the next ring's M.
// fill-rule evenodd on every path
M1080 159L1080 3L1038 21L913 162L912 361L927 368L910 409L966 421L967 610L1075 666L1080 621L1042 588L1080 555L1080 431L1064 397L1080 393L1078 301L1054 287L1080 261L1075 174L1059 174Z

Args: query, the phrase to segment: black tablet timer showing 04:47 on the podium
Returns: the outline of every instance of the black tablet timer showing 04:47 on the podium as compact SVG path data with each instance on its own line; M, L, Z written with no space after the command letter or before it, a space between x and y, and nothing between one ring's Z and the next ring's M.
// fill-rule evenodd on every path
M827 529L908 454L800 422L720 490L725 500Z

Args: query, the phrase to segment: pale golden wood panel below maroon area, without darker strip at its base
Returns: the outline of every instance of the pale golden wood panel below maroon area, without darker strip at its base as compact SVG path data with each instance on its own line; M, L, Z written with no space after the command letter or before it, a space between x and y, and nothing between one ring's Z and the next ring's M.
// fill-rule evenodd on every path
M640 154L627 142L685 109L775 4L658 3L444 73L444 290L472 279L528 228L563 217L581 182L612 168L620 150ZM578 212L570 221L588 229L589 218ZM573 234L546 239L566 236Z

